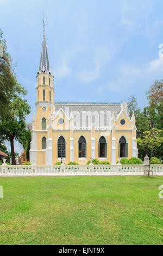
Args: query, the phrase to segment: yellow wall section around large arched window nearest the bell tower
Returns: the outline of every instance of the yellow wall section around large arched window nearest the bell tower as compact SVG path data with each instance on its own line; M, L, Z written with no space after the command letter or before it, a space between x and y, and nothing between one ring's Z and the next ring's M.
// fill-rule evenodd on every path
M65 163L70 162L70 131L53 131L52 133L52 140L53 140L53 164L60 161L58 160L58 139L60 136L63 136L66 141L66 159L64 160Z

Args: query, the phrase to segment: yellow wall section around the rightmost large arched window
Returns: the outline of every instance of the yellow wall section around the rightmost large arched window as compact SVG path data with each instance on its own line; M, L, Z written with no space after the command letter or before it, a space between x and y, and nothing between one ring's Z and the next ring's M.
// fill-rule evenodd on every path
M124 136L128 143L128 158L131 157L132 131L116 131L116 162L118 160L118 142Z

